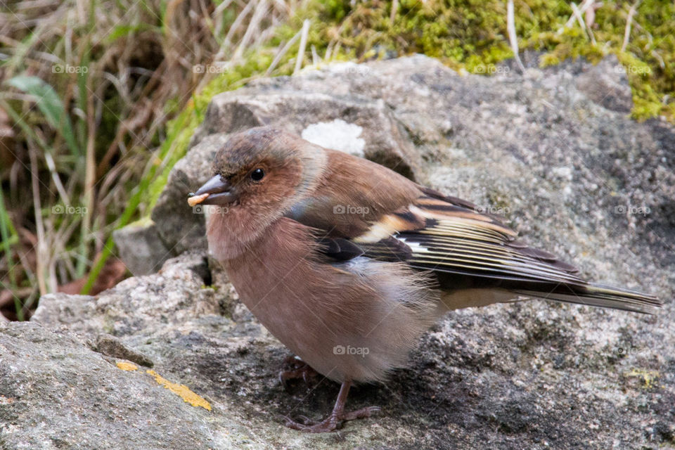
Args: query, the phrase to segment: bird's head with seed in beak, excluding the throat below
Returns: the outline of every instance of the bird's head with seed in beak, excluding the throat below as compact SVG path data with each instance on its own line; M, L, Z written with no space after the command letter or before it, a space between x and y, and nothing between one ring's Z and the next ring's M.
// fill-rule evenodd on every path
M307 144L272 127L234 134L216 153L212 178L188 203L281 214L312 187L323 167L323 150Z

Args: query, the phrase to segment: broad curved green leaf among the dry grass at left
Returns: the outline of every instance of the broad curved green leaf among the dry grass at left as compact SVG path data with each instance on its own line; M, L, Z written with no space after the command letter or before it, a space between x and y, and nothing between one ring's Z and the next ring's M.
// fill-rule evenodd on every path
M56 94L53 87L38 77L27 75L13 77L8 80L7 84L33 96L37 107L44 115L47 123L56 129L63 136L63 139L65 139L70 148L70 153L76 157L82 156L82 151L77 145L77 141L75 141L75 134L72 131L70 118L65 114L63 101Z

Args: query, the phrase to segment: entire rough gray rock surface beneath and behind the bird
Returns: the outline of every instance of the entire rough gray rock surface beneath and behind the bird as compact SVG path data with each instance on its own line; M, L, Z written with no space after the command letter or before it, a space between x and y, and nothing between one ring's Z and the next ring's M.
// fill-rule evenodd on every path
M35 323L0 324L0 447L675 448L675 131L626 117L616 64L480 77L415 56L217 96L153 211L181 255L96 297L45 296ZM352 392L350 407L380 405L379 418L330 435L288 430L281 416L325 415L338 386L283 389L288 350L237 302L205 255L202 214L185 204L227 134L257 124L346 142L666 306L657 316L545 302L455 311L409 368ZM127 359L139 368L116 366Z

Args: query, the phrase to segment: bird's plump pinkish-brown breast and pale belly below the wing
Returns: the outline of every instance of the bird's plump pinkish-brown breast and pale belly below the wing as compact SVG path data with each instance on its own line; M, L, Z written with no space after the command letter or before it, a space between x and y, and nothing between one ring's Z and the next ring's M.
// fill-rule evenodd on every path
M380 380L405 364L435 300L404 266L357 259L321 262L309 228L282 218L224 266L252 314L316 371Z

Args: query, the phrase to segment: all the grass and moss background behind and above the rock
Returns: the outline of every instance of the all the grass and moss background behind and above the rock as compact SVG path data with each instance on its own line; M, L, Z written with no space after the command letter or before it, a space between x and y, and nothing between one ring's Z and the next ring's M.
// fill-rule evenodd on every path
M513 6L520 51L615 54L634 118L674 121L674 1ZM214 94L410 53L489 76L513 58L507 1L0 0L2 315L129 275L112 231L148 216Z

